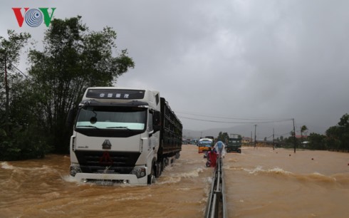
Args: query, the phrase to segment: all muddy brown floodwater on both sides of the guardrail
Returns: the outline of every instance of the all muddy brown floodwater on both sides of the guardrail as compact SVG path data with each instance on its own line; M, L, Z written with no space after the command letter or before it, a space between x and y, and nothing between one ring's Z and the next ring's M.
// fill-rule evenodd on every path
M243 147L224 158L229 217L349 217L349 154ZM150 186L69 180L70 159L0 162L0 217L204 217L212 168L195 145Z

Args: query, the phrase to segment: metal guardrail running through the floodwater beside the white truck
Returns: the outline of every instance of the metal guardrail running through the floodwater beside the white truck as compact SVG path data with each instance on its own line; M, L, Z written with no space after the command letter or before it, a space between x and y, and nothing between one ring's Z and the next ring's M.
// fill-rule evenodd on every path
M226 210L225 182L222 157L217 158L213 172L213 181L205 209L205 218L228 217Z

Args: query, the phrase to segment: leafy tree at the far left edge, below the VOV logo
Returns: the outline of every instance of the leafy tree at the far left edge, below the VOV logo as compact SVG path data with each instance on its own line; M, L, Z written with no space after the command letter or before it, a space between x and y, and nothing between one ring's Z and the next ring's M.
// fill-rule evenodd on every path
M0 36L0 160L43 157L48 148L37 133L41 125L32 113L35 102L31 88L28 79L15 71L31 36L12 30L7 33L7 39ZM7 85L3 82L5 73Z

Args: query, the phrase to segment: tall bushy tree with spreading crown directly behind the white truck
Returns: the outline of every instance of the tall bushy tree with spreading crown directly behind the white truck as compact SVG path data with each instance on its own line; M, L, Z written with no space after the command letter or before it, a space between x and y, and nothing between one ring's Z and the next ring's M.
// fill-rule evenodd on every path
M127 50L113 56L116 32L112 28L88 31L80 19L53 19L45 33L43 51L29 53L37 113L56 152L68 152L71 129L66 128L66 118L68 111L78 106L85 89L110 86L134 67Z

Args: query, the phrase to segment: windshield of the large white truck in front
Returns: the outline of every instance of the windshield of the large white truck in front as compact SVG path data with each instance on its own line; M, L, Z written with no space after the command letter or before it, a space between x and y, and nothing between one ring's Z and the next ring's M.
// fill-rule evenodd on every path
M75 128L144 130L147 108L85 106L80 109Z

